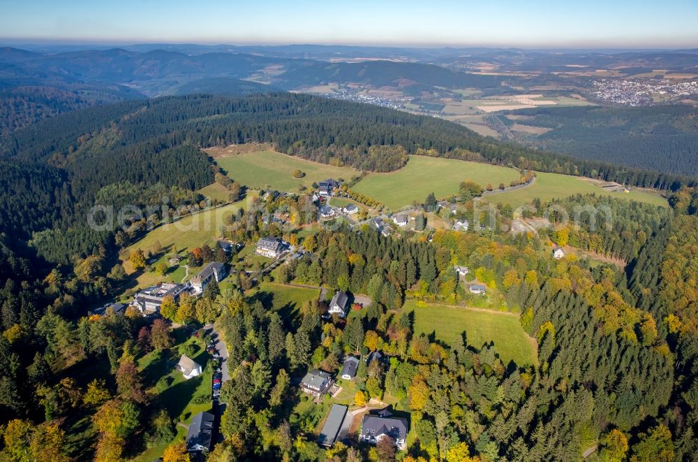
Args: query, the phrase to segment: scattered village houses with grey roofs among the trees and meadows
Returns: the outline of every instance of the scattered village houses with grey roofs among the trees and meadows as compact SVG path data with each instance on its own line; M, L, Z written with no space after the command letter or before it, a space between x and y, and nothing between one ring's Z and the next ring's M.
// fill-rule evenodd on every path
M274 201L287 197L288 193L274 190L260 192L262 201ZM406 231L419 233L425 240L431 241L435 231L433 225L447 226L454 231L473 231L470 220L467 219L456 201L436 201L431 205L413 205L401 209L399 212L378 212L367 208L362 203L348 200L346 188L341 188L341 180L327 179L318 182L317 187L309 193L309 199L316 210L316 223L329 224L341 220L353 229L370 229L382 236L394 236L403 238ZM429 209L429 210L427 210ZM431 219L424 215L429 212ZM262 223L277 231L284 226L290 226L288 213L266 213ZM480 225L478 232L487 231L484 225ZM246 268L234 264L233 257L243 253L246 247L243 242L233 242L222 236L215 240L215 252L209 253L215 259L209 261L193 277L181 282L161 282L144 287L135 292L128 303L107 303L100 308L92 310L93 315L125 315L127 310L135 310L138 314L151 322L163 317L163 304L177 305L182 297L197 299L215 286L229 284L227 278L236 276L244 277L250 283L260 282L268 278L272 272L278 272L283 266L292 261L311 256L308 248L298 243L290 243L272 234L262 235L254 244L253 255L261 259L253 268ZM553 257L561 259L565 256L563 249L554 247ZM248 257L246 257L248 258ZM172 254L168 259L170 266L181 263L179 254ZM467 266L454 266L454 272L464 284L470 296L483 300L487 298L487 284L481 283L473 277ZM278 273L275 273L278 274ZM324 307L322 318L326 322L343 322L348 319L355 310L362 310L364 305L370 305L371 299L359 294L351 294L348 291L337 290L331 298L322 287L316 287L320 291L318 303ZM325 298L327 297L327 298ZM186 328L173 324L173 328ZM193 457L207 454L216 443L218 433L217 422L221 417L225 405L221 405L221 389L227 380L230 380L231 371L228 369L228 351L225 343L219 338L213 324L204 326L203 329L194 330L196 337L205 337L206 352L210 355L212 366L210 374L210 402L209 411L201 411L193 415L188 424L186 435L186 449ZM209 340L211 339L211 340ZM215 339L215 340L214 340ZM315 403L328 407L327 413L322 417L323 422L318 433L318 444L322 447L332 447L336 442L346 441L350 431L357 432L359 441L369 445L376 445L382 438L389 437L394 442L396 449L404 450L407 446L408 415L394 410L392 404L383 403L371 398L362 406L352 405L353 393L357 390L355 380L362 381L369 377L371 368L376 364L387 366L389 357L380 351L365 352L360 354L347 354L341 361L341 370L331 373L318 368L312 368L302 377L297 377L297 386L301 394L308 396L308 403ZM373 363L373 365L372 365ZM181 374L184 380L191 380L204 373L205 365L198 363L194 358L183 353L176 362L175 370ZM360 377L359 377L360 376ZM339 398L339 399L338 399ZM338 402L339 401L339 402ZM324 408L324 407L323 407Z

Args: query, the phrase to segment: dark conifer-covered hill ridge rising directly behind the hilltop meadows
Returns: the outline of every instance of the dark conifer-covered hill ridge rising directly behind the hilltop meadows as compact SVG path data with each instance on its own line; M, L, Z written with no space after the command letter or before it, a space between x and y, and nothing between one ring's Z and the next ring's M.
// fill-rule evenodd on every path
M90 156L152 154L178 145L267 142L315 161L368 171L403 166L403 155L375 157L369 147L401 145L408 153L588 175L640 187L678 189L695 180L572 159L499 143L458 124L396 110L300 94L177 96L77 110L13 133L3 154L57 165ZM99 149L92 149L99 145Z

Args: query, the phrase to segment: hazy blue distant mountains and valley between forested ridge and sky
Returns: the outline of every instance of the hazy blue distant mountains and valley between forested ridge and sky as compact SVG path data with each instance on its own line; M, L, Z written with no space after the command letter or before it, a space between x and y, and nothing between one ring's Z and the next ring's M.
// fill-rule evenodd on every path
M698 74L698 50L186 44L29 48L0 48L0 130L84 106L172 94L234 96L334 84L392 87L417 98L422 92L462 88L486 96L557 83L560 73L577 69L586 73L579 80L587 82L596 69L626 75L658 68Z

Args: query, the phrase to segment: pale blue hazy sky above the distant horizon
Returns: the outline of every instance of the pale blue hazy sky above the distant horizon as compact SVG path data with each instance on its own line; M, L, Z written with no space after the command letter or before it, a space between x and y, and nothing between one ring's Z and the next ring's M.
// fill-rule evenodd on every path
M698 0L0 0L0 38L697 47Z

